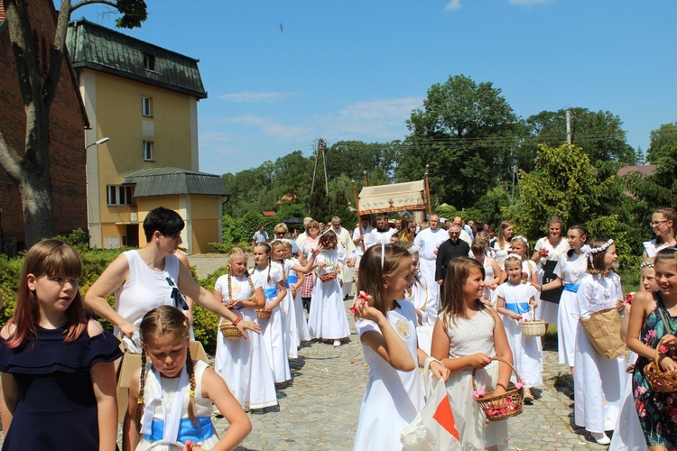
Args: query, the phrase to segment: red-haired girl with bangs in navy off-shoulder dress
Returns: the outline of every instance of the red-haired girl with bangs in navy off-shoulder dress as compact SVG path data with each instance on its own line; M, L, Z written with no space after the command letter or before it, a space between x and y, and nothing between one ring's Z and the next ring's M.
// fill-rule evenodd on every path
M114 450L115 336L88 319L82 263L59 240L23 261L14 317L0 331L3 450Z

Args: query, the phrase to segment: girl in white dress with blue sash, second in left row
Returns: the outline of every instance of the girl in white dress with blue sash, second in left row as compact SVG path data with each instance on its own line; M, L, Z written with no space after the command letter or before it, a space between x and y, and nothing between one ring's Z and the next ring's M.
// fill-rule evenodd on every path
M255 284L261 284L264 288L264 310L271 312L270 318L258 319L262 328L261 336L264 339L265 351L273 369L275 383L287 382L292 379L292 373L289 369L287 346L284 344L284 325L280 308L280 302L287 296L283 273L271 263L269 244L255 244L252 253L256 263L252 279Z

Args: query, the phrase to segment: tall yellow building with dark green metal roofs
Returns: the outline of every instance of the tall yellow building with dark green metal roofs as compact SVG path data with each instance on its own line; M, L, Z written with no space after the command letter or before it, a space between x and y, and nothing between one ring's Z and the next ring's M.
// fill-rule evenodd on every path
M198 60L84 19L70 23L68 48L92 126L87 146L90 245L145 244L154 207L186 221L189 253L220 242L220 177L199 172L198 101L207 97ZM106 140L107 139L107 140Z

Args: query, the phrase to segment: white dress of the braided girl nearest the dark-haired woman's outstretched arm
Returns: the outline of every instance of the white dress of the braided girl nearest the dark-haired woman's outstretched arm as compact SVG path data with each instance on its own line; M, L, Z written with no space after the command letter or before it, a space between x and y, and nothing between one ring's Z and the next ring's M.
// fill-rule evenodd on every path
M233 299L243 300L252 296L252 289L245 276L233 277ZM257 281L252 280L255 287ZM221 291L221 299L228 299L228 276L218 278L214 290ZM236 311L246 321L256 322L254 308L246 307ZM214 369L226 381L228 389L239 401L242 408L264 409L277 405L275 382L270 359L259 334L247 333L247 339L227 340L221 331L217 335L217 354Z

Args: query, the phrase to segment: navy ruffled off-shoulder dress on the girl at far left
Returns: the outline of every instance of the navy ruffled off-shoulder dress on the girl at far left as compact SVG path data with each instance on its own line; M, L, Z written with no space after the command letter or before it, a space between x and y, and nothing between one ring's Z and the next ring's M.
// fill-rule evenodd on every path
M3 450L98 450L97 400L89 370L122 355L107 332L85 329L69 344L66 329L38 327L37 338L10 349L0 338L0 372L14 376L19 402Z

